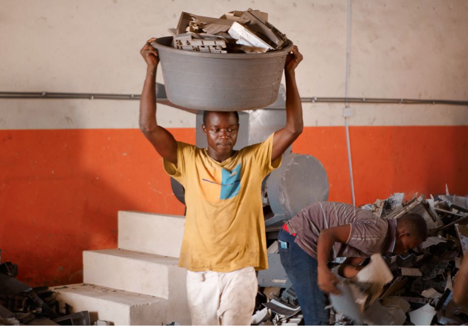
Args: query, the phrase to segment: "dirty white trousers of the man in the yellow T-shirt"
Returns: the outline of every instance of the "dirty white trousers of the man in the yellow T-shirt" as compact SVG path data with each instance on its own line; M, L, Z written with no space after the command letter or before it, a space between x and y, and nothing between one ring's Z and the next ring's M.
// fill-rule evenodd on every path
M250 325L258 283L255 269L187 271L192 325Z

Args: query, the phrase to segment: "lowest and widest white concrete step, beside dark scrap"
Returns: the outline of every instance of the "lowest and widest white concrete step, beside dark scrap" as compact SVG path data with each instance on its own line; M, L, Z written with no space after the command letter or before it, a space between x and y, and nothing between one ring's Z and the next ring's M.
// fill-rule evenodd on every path
M72 306L72 313L89 311L91 325L96 320L114 325L190 325L187 306L151 295L117 290L99 285L73 284L52 288L61 308Z

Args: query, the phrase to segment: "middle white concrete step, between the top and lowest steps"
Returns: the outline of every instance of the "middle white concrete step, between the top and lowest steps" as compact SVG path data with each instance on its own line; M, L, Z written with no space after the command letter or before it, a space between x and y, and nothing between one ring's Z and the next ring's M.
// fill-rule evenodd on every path
M186 301L187 271L178 259L124 249L83 251L83 282Z

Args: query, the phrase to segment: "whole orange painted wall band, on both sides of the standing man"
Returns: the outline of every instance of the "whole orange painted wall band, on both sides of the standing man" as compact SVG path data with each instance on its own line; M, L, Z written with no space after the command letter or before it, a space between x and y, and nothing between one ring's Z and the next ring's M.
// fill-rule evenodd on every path
M171 129L195 142L195 129ZM393 192L468 193L468 126L351 127L357 204ZM293 145L325 166L329 200L351 202L344 127ZM29 285L82 280L82 251L117 246L117 211L183 214L138 129L0 130L0 248Z

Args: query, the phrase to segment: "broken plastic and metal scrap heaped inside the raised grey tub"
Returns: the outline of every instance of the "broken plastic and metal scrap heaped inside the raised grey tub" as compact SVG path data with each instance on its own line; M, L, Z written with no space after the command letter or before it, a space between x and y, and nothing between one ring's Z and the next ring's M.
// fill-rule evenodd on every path
M286 35L259 10L231 11L220 18L182 12L177 28L169 29L172 46L210 53L264 53L279 50Z

